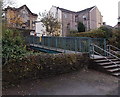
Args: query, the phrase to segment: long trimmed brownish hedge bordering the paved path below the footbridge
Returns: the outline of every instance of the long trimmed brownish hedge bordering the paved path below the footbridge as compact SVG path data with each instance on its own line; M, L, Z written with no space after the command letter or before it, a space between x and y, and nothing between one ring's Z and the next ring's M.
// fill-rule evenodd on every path
M88 66L87 54L38 54L11 60L3 66L3 87L25 79L44 78Z

